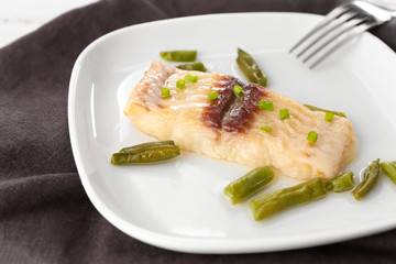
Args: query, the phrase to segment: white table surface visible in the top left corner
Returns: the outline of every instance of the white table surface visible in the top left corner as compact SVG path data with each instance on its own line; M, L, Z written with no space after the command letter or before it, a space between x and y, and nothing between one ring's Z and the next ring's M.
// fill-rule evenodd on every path
M0 47L75 8L98 0L0 0Z

